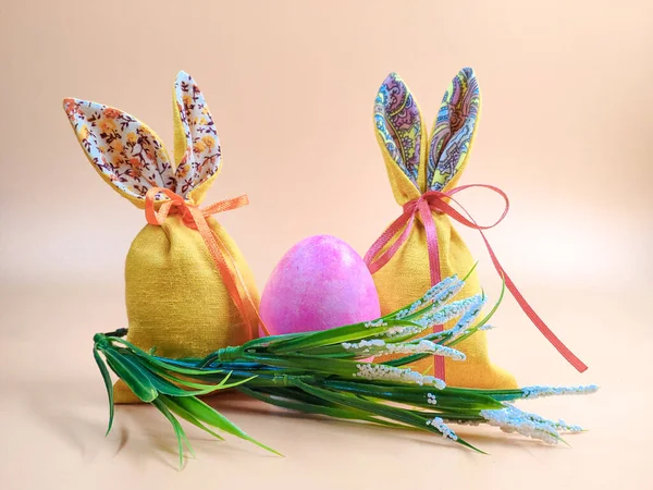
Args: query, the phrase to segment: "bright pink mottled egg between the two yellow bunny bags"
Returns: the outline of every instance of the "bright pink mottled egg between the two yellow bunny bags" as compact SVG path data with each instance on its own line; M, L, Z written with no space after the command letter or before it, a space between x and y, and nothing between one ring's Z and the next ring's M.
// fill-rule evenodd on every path
M297 243L276 265L260 315L275 335L373 320L381 307L362 258L342 240L317 235Z

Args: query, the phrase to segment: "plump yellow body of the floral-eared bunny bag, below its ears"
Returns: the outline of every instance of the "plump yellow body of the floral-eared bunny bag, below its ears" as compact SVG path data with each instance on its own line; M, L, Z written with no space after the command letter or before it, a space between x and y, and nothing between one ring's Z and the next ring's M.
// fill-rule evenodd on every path
M258 305L255 279L241 250L222 225L208 221ZM127 254L125 283L127 341L143 350L156 346L162 357L202 357L250 339L201 236L178 216L138 233ZM250 321L256 324L256 317ZM131 403L131 393L126 387L116 389L115 402Z

